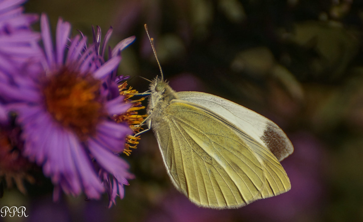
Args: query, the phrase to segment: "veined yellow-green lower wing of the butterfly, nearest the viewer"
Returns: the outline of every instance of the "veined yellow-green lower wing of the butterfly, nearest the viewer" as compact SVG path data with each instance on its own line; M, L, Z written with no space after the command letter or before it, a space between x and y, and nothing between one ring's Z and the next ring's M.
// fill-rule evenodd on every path
M234 208L290 189L269 149L218 114L181 100L164 111L152 129L172 182L192 202Z

